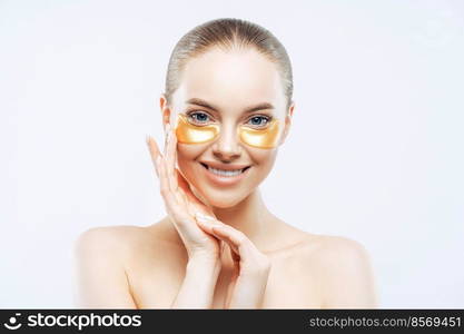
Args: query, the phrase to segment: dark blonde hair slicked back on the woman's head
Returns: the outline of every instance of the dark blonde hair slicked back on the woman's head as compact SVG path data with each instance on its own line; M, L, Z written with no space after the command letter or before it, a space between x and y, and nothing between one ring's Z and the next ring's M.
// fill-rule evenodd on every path
M165 97L171 105L172 94L180 85L180 75L190 58L198 57L213 47L225 51L254 48L276 63L283 80L287 109L292 104L293 73L290 59L284 46L265 28L240 19L216 19L195 27L177 42L169 58Z

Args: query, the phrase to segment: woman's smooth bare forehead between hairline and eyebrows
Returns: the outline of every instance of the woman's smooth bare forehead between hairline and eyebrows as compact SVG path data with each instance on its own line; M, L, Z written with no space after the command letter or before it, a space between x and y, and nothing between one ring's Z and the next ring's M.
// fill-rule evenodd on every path
M215 48L190 59L175 95L180 104L200 98L233 112L261 102L270 102L277 109L285 105L276 63L253 49Z

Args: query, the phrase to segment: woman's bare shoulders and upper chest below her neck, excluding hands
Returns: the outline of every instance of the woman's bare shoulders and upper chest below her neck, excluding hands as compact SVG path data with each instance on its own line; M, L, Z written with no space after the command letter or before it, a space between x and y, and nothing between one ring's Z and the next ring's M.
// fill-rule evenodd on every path
M278 220L276 249L263 308L374 308L368 257L356 242L299 232ZM276 226L277 227L277 226ZM185 276L187 252L166 218L148 227L98 227L86 232L77 306L170 308ZM285 240L282 236L285 235ZM97 259L96 259L97 257ZM226 257L210 308L224 308L230 258Z

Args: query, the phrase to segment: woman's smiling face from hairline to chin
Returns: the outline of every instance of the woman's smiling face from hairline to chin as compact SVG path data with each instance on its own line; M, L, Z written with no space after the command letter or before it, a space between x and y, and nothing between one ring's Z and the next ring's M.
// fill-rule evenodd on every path
M177 146L179 169L200 199L213 207L231 207L267 177L290 125L294 106L286 110L286 102L276 65L253 49L225 52L215 48L187 62L171 108L161 96L161 109L170 111L164 115L172 127L182 114L184 126L199 129L197 134L211 125L216 129L213 139ZM269 143L266 129L273 119L278 135L274 131L277 140L269 148L263 143ZM239 135L249 129L251 139L258 134L259 145ZM210 167L228 170L227 175Z

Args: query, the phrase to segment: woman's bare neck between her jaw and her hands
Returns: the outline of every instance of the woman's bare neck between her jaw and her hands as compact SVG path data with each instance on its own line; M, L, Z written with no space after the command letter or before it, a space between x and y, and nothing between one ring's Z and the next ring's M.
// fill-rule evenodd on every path
M243 232L257 246L264 244L265 232L270 230L275 222L263 202L259 188L236 206L213 207L213 212L220 222Z

